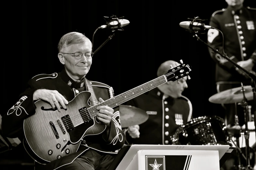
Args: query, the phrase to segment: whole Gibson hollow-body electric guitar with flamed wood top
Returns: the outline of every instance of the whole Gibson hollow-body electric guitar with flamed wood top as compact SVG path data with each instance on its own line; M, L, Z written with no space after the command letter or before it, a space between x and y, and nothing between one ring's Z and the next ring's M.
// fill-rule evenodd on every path
M98 106L113 108L168 81L188 76L190 66L183 64L182 60L181 63L175 68L171 66L167 74L95 106L88 104L91 96L88 91L77 94L66 106L67 109L61 108L61 112L38 100L35 102L36 113L24 120L24 133L30 149L47 162L76 152L85 136L100 134L106 128L105 124L96 121Z

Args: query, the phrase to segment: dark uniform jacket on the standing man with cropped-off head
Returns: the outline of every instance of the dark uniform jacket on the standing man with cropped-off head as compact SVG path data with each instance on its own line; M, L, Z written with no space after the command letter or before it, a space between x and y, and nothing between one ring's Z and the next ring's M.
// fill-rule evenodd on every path
M224 35L224 52L234 62L256 61L256 9L242 7L234 11L231 6L214 12L210 26L219 29ZM208 30L208 44L222 53L222 35L216 29ZM234 64L209 48L212 59L216 62L216 82L246 81L237 73ZM253 70L255 71L255 65Z

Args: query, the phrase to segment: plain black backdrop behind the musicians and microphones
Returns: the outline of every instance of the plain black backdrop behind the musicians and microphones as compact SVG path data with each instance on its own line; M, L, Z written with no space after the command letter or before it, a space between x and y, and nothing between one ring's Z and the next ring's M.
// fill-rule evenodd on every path
M256 7L254 0L244 5ZM221 106L208 101L216 93L215 63L207 46L179 26L187 18L207 19L227 7L225 0L200 1L22 1L8 6L3 14L6 42L10 50L2 53L3 113L19 99L29 78L52 74L63 68L57 58L57 44L68 32L84 33L92 40L103 16L124 16L130 24L116 31L94 56L86 76L113 87L115 95L156 78L158 66L166 60L182 59L192 66L188 89L183 93L193 105L193 116L221 116ZM96 50L111 35L101 29L94 36ZM199 35L206 42L206 34ZM10 52L10 53L9 53ZM7 62L6 62L7 61Z

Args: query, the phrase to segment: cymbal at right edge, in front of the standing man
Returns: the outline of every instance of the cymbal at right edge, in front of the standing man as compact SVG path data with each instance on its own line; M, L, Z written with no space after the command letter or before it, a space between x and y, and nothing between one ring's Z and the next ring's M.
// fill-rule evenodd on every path
M251 86L244 86L244 92L246 99L253 100L253 92ZM212 95L209 98L209 102L216 104L229 104L229 103L240 103L244 98L242 87L236 87L228 89Z

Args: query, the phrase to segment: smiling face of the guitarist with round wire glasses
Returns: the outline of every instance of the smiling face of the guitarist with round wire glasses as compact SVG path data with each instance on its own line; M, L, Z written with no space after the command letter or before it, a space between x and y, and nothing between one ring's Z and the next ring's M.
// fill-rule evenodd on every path
M72 44L67 48L66 53L75 53L81 51L86 53L92 50L92 44L90 41L85 41L82 44ZM88 59L83 54L80 59L76 59L73 54L58 54L60 62L65 65L67 74L76 81L81 80L88 73L92 64L92 58Z

